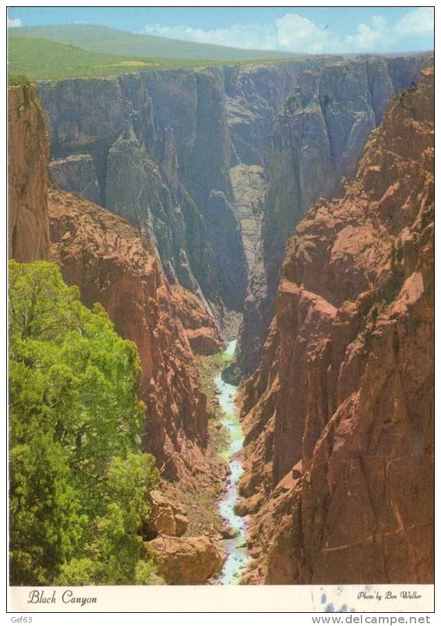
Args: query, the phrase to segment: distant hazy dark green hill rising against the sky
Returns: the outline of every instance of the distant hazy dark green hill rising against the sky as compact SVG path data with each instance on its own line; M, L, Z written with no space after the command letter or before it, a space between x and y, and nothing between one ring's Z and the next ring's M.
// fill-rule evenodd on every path
M62 44L85 50L130 57L162 57L165 59L198 59L199 61L256 61L292 57L288 53L268 50L242 50L213 44L196 44L153 35L138 35L92 24L66 26L23 26L15 28L17 35L46 37Z

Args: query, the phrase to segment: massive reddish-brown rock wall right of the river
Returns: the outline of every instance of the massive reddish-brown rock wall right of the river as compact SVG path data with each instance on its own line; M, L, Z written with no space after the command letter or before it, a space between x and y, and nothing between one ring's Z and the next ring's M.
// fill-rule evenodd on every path
M243 393L247 582L433 582L433 113L427 69L288 243Z

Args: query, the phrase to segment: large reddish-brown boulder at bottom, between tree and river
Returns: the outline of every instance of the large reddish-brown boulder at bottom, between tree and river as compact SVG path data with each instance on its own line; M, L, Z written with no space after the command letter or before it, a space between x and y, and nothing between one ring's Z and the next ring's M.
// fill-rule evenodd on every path
M158 573L169 585L203 585L225 560L208 537L158 537L149 547Z

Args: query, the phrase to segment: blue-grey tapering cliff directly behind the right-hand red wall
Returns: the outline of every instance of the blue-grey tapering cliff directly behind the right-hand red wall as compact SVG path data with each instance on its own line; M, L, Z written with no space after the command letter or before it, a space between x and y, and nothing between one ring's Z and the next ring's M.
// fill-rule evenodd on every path
M270 135L261 247L245 300L237 364L249 375L274 315L285 245L306 209L352 176L391 96L414 84L426 59L373 57L306 68Z

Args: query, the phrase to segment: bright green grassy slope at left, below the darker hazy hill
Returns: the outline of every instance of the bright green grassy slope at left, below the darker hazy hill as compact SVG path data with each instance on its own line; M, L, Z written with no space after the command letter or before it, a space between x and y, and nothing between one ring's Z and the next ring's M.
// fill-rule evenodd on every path
M210 61L210 64L220 64L220 61ZM140 58L95 53L44 37L14 34L8 39L8 69L12 82L16 75L24 75L32 80L62 80L200 65L203 65L203 61L198 59Z

